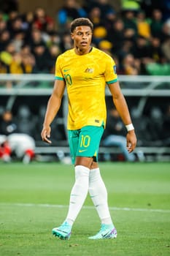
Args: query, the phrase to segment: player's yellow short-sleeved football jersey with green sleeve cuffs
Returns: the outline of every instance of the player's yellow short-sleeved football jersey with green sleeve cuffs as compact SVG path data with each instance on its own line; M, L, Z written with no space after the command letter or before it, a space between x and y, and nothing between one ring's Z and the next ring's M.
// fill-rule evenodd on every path
M72 50L58 56L55 79L65 80L69 101L68 129L106 124L106 83L115 83L115 61L106 53L92 48L77 55Z

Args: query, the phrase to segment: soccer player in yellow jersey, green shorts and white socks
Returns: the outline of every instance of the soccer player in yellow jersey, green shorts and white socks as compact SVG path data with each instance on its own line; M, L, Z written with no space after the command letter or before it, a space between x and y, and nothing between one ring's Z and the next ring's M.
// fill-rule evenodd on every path
M77 215L89 192L101 220L101 229L90 239L116 238L117 230L110 216L107 189L98 167L98 147L106 125L105 86L127 128L127 150L136 146L134 126L125 98L117 81L115 61L91 46L93 23L77 18L71 23L74 48L58 56L53 93L47 103L42 140L51 143L50 124L61 106L63 92L69 101L68 135L75 183L69 201L69 211L63 224L53 228L53 235L69 239Z

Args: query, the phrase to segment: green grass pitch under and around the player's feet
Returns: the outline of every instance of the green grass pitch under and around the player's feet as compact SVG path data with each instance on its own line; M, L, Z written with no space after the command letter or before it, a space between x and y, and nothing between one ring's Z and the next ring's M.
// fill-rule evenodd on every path
M66 217L73 167L0 163L0 255L170 255L169 165L101 163L117 239L88 240L100 226L88 197L72 237L61 241L51 230Z

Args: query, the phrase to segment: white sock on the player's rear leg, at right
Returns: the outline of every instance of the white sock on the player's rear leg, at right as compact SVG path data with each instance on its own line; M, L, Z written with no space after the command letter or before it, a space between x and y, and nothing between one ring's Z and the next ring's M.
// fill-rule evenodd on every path
M98 216L101 219L101 223L112 224L109 206L107 203L107 189L103 179L101 178L99 168L90 170L89 194L94 206L96 207Z

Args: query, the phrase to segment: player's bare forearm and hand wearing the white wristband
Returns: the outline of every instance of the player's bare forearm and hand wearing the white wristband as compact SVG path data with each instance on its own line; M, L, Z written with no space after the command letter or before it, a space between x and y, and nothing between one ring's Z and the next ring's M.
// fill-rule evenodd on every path
M122 118L123 123L125 124L125 126L131 124L132 121L131 121L131 116L128 110L128 105L120 89L119 83L118 82L110 83L109 90L112 94L112 100L114 102L114 105L118 113L120 114L120 117ZM127 139L128 152L134 151L134 148L136 147L136 135L133 128L128 131L126 139Z

